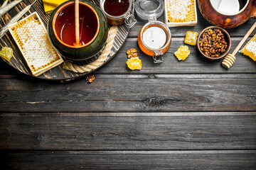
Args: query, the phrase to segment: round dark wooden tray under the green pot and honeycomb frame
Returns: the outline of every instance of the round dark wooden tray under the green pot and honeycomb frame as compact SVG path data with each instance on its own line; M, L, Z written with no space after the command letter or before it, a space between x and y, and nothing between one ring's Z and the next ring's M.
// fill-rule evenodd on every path
M99 0L92 1L95 4L99 4ZM28 2L29 3L29 2ZM19 5L18 5L19 6ZM24 8L23 5L21 5L20 11ZM48 19L50 18L50 14L46 15L46 13L43 11L43 4L41 1L36 1L35 4L31 7L30 13L33 13L34 11L37 11L39 16L41 17L43 23L45 26L47 26ZM28 13L28 15L30 14ZM16 14L16 13L15 13ZM26 17L28 15L23 16ZM13 16L13 15L11 15ZM96 69L92 69L90 72L85 73L74 73L70 72L66 69L63 69L62 64L60 64L58 67L55 67L53 69L50 69L48 72L45 72L44 74L41 74L37 78L39 79L47 79L47 80L55 80L55 81L62 81L62 80L70 80L70 79L76 79L78 77L86 76L87 74L92 74L92 72L95 72L97 69L100 69L103 65L107 64L114 55L117 54L117 52L120 50L122 45L124 44L124 41L127 39L129 33L129 27L126 24L123 24L122 26L118 27L118 32L116 37L114 38L114 45L112 47L112 50L110 52L110 55L108 55L107 60L102 63L99 67ZM16 45L14 39L11 37L10 33L6 33L4 37L1 39L0 42L1 47L11 47L14 50L14 57L11 58L10 62L6 62L7 64L11 65L11 67L14 67L19 72L22 72L24 74L27 74L28 76L34 77L30 70L28 69L28 66L26 64L26 61L23 59L23 56L21 55L21 51L18 49L18 46ZM97 55L95 57L90 58L89 60L85 60L76 64L88 64L90 62L93 62L97 60ZM63 58L63 60L65 60Z

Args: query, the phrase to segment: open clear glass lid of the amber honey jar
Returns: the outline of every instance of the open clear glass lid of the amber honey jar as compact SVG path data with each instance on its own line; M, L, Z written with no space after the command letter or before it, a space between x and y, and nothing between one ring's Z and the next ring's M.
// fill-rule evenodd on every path
M137 15L144 19L149 20L152 18L159 18L164 12L163 0L137 0L134 5Z

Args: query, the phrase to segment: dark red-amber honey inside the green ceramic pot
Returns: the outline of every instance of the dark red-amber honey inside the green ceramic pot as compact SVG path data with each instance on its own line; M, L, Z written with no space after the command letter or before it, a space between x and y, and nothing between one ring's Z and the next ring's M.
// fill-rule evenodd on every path
M99 31L97 16L89 6L79 4L80 42L87 45ZM75 4L63 8L55 18L55 33L65 45L75 42Z

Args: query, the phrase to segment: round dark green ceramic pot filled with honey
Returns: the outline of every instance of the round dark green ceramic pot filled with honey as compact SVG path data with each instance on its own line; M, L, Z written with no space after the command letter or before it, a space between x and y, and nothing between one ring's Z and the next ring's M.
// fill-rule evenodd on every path
M69 60L87 60L97 55L107 40L107 19L101 9L80 0L80 45L75 45L75 1L56 8L48 21L48 37L56 50Z

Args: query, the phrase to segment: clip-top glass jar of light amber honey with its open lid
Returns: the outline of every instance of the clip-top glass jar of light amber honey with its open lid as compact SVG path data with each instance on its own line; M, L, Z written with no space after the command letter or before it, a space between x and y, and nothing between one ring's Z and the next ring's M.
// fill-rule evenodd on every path
M140 49L154 59L154 63L162 62L164 52L171 45L171 31L165 23L156 21L164 12L164 2L161 0L137 0L135 2L137 15L148 20L139 32L138 44Z

